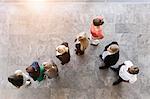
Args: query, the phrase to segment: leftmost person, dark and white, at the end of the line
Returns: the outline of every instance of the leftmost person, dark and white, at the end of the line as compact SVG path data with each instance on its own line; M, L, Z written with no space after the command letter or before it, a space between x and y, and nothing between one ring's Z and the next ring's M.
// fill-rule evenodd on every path
M10 75L8 81L17 88L20 88L23 85L29 86L31 84L29 76L21 70L16 70L13 75Z

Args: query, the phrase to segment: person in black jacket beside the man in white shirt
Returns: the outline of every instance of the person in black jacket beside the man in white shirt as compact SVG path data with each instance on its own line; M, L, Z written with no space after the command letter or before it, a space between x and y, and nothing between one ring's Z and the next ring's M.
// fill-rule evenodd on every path
M107 69L115 65L119 60L119 44L117 42L108 44L100 55L100 58L105 63L105 66L99 67L99 69Z

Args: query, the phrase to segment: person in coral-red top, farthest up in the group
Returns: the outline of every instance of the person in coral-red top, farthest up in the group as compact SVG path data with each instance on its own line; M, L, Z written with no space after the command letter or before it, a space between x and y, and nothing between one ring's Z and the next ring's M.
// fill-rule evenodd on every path
M93 19L90 32L91 32L91 45L98 46L101 39L104 38L104 33L102 30L102 25L104 24L103 17L97 16Z

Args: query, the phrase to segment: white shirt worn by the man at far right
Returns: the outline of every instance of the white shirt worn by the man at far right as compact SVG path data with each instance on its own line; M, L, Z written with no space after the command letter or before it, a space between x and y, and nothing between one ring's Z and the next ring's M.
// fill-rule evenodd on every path
M137 74L130 74L128 72L128 68L133 66L133 63L131 61L125 61L124 64L119 70L119 76L123 80L129 81L129 83L134 83L137 80Z

